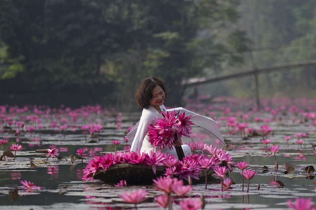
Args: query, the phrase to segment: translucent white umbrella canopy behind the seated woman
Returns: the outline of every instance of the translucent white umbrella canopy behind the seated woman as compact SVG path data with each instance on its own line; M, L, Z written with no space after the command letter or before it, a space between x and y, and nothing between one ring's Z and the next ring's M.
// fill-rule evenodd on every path
M182 142L190 143L190 142L202 142L208 145L213 145L217 148L222 148L226 146L222 134L219 130L219 127L215 120L208 118L206 116L199 115L190 110L184 109L183 107L177 107L173 109L167 109L167 112L177 111L179 114L185 113L185 116L192 116L190 119L194 125L191 125L192 131L190 134L191 138L187 138L182 136ZM133 139L136 134L136 130L138 127L139 121L136 125L131 129L131 131L125 136L129 142L132 144Z

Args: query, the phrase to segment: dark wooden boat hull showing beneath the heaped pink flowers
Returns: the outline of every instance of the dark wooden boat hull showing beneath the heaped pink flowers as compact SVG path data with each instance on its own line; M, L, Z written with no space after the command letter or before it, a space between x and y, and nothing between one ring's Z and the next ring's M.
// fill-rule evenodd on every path
M106 172L97 171L93 175L93 179L101 180L107 184L117 184L120 180L126 180L127 184L146 185L152 184L154 179L162 176L165 168L157 166L156 174L153 172L152 167L142 164L130 164L120 163L109 167ZM216 180L212 174L213 170L207 171L207 180ZM205 181L205 171L202 171L199 175L199 180L193 180L194 182Z

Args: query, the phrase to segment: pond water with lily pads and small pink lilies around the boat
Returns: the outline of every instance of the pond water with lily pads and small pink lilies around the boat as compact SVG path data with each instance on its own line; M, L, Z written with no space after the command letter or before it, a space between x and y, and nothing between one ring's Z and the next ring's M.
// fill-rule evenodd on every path
M307 173L304 170L307 166L315 167L316 161L316 154L312 152L316 144L315 107L311 107L310 103L308 105L267 106L260 111L249 111L249 108L247 111L232 111L227 104L189 106L189 109L217 120L227 144L224 149L233 156L234 162L248 161L250 167L267 166L268 171L256 169L258 174L250 180L248 193L246 181L242 192L241 171L235 168L229 172L229 177L235 182L231 189L221 191L219 180L210 180L205 189L205 183L201 180L193 185L193 190L186 197L203 196L206 204L204 209L282 210L288 209L287 200L295 201L297 197L311 197L315 202L315 172ZM12 144L22 145L23 149L16 151L14 161L11 157L0 161L0 209L134 209L134 205L123 203L119 197L133 189L149 192L148 199L137 205L138 209L162 209L153 202L159 193L152 185L127 184L126 187L116 187L101 183L100 180L82 181L82 170L92 157L114 152L112 140L121 141L117 150L124 150L126 143L123 136L126 129L139 116L140 113L118 113L100 106L76 110L64 107L2 106L0 139L7 139L8 143L1 145L0 154ZM242 134L236 125L229 125L229 119L238 123L246 122L249 130L259 130L262 125L269 125L272 131L265 137L251 136L247 129ZM8 124L10 121L13 121L11 125ZM52 126L54 121L57 126ZM19 129L17 122L25 123L20 135L16 134ZM103 126L99 136L94 134L93 142L90 142L90 135L84 134L80 128L91 123ZM59 127L62 124L68 125L65 131ZM32 133L28 131L30 126L36 128ZM298 136L300 134L307 135ZM286 141L284 136L290 136L290 139ZM263 139L271 142L265 145L261 142ZM297 143L300 139L304 140L301 145ZM268 150L272 145L280 146L276 153L278 170L275 170L274 155L269 156L271 152ZM46 161L45 153L36 152L47 148L58 148L60 158L49 157ZM79 148L85 150L82 163L81 159L77 159L78 162L73 164L69 155L78 156L76 153ZM284 173L286 168L282 166L286 164L293 166L294 174ZM28 191L23 188L21 180L31 181L41 188ZM276 181L279 181L278 184ZM180 210L178 201L181 198L174 196L174 200L173 209Z

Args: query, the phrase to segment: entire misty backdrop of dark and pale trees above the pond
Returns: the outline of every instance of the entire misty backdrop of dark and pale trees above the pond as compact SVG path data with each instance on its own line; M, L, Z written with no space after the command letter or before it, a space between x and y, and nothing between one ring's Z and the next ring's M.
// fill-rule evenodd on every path
M170 93L167 105L183 105L192 93L189 79L316 60L315 4L0 0L2 102L101 103L132 110L139 82L159 76ZM260 74L260 94L313 96L314 69ZM198 87L210 96L252 97L254 89L252 76Z

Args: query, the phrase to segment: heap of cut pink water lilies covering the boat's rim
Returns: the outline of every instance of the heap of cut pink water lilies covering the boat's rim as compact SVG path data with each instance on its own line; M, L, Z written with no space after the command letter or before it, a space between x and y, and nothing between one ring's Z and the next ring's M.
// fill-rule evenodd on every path
M207 148L207 147L206 147ZM210 150L211 146L208 148ZM235 163L232 161L232 156L222 149L212 149L210 155L189 155L183 158L182 161L176 159L173 155L166 155L159 150L150 154L141 152L116 152L106 153L103 156L92 158L86 168L83 170L83 180L93 179L93 175L97 171L106 173L106 170L115 164L129 163L142 164L152 167L156 173L157 166L164 166L166 177L177 176L180 179L188 180L189 177L199 179L198 175L204 169L216 169L219 166L225 166L232 170Z

